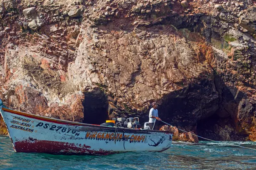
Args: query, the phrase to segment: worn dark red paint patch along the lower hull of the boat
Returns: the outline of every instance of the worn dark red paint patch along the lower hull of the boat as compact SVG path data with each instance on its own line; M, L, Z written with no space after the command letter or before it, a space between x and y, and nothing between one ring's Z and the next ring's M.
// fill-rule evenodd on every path
M16 152L51 153L61 155L109 155L119 153L112 150L90 150L90 146L75 145L68 142L55 142L30 139L15 142Z

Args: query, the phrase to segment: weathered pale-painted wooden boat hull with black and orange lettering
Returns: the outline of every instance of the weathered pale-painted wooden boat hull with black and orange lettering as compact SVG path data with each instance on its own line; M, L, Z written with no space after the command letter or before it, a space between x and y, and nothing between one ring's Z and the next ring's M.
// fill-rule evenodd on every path
M172 133L90 125L14 111L0 100L0 113L16 152L108 155L167 150Z

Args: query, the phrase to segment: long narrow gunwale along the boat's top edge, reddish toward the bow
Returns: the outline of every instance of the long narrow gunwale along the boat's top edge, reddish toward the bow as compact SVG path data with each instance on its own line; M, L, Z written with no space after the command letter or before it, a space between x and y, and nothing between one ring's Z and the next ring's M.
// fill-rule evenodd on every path
M108 126L101 126L101 125L92 125L92 124L87 124L87 123L79 123L79 122L71 122L71 121L67 121L67 120L61 120L61 119L55 119L55 118L49 118L49 117L44 117L44 116L38 116L38 115L34 115L34 114L30 114L30 113L26 113L26 112L21 112L21 111L15 111L9 108L1 108L3 111L6 112L10 112L13 114L17 114L20 116L25 116L25 117L29 117L32 119L39 119L42 121L46 121L46 122L52 122L52 123L58 123L58 124L67 124L67 125L79 125L79 126L87 126L87 127L98 127L98 128L102 128L102 129L113 129L113 127L108 127ZM130 129L130 128L120 128L117 127L117 129L119 130L132 130L132 131L144 131L145 133L147 132L157 132L157 133L170 133L173 134L173 132L171 131L161 131L161 130L145 130L145 129ZM134 132L136 133L136 132Z

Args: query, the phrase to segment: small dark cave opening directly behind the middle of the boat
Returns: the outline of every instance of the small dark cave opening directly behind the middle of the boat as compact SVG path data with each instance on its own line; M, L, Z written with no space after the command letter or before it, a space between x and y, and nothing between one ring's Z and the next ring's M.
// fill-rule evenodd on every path
M84 93L84 123L100 125L108 117L108 98L104 91L96 88Z

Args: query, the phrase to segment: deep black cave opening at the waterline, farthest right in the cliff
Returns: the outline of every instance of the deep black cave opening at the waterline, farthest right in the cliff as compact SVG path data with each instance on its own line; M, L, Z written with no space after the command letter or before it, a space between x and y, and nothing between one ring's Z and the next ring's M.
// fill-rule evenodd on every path
M214 82L219 95L218 110L211 116L197 121L198 135L218 141L246 140L248 134L237 122L237 107L243 93L237 88L228 87L217 74L214 75Z

